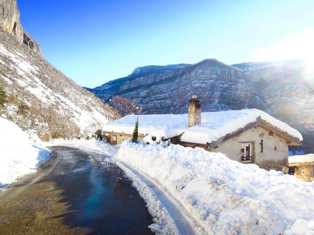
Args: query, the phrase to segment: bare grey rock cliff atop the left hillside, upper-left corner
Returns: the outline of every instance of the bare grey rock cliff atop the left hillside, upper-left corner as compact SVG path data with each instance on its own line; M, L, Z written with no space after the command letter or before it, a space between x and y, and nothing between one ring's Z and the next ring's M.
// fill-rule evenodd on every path
M0 11L2 13L0 17L0 27L5 32L13 34L20 43L24 43L36 54L42 55L40 46L30 36L30 34L28 34L22 28L19 18L20 12L16 1L14 0L0 1Z

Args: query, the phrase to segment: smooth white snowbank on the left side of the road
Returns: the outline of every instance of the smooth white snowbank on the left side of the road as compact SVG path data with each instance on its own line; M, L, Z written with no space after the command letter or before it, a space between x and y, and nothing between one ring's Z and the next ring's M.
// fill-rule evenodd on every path
M13 122L0 118L0 189L18 177L35 172L36 165L48 159L50 151L30 140Z

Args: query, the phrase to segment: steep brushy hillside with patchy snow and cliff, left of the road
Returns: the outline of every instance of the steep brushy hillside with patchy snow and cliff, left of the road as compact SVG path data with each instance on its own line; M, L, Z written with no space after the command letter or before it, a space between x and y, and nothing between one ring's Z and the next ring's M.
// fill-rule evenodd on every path
M0 10L0 87L8 96L2 116L44 140L90 136L111 120L112 107L44 58L20 24L16 1L1 1Z

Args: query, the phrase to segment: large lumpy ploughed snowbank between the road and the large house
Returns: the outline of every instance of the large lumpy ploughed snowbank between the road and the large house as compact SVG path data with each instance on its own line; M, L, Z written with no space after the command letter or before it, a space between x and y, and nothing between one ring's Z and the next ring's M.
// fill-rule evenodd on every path
M314 231L314 183L173 144L125 140L118 159L160 182L209 234Z

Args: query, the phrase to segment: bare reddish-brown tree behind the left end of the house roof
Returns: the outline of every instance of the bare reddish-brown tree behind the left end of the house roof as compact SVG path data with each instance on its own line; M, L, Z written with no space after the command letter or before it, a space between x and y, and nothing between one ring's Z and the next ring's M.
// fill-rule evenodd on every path
M129 114L139 115L142 112L142 108L139 106L136 100L130 100L126 97L113 96L109 100L109 103L116 108L116 115L126 116Z

